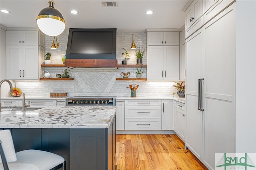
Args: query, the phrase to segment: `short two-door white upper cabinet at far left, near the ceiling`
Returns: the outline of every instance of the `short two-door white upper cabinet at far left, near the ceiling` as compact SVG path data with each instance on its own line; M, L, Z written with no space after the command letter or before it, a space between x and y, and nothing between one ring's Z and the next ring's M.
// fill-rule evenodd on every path
M38 31L6 31L6 45L38 45Z

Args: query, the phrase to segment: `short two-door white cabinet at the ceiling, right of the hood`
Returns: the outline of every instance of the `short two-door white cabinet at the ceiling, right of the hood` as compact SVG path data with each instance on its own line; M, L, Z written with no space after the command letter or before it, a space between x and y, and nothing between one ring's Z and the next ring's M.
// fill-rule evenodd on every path
M148 32L148 45L179 45L179 32Z

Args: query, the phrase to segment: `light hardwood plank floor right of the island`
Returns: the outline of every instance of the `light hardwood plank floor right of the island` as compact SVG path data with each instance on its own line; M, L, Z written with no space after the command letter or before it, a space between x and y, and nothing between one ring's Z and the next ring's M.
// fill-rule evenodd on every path
M176 134L116 135L117 170L207 170Z

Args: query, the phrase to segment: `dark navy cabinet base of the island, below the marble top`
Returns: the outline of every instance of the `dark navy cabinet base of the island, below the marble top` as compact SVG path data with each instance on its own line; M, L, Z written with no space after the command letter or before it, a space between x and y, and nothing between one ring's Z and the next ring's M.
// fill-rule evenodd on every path
M12 128L9 130L12 133L16 152L38 149L58 154L66 160L66 170L115 170L115 118L109 128Z

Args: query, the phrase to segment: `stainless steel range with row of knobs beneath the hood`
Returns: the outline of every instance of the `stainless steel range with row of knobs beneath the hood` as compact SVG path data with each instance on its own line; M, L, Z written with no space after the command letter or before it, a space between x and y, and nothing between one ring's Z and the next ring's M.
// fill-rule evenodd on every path
M78 96L66 99L66 105L116 105L116 96Z

